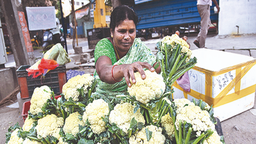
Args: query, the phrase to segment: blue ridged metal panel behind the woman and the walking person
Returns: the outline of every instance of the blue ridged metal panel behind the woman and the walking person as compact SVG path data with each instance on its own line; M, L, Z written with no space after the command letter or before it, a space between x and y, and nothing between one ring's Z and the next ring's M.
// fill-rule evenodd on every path
M217 0L218 2L219 0ZM214 3L211 6L211 21L218 24L218 13L214 13ZM159 33L170 35L179 30L200 30L201 17L198 13L196 0L135 0L132 6L140 22L137 29L161 28Z

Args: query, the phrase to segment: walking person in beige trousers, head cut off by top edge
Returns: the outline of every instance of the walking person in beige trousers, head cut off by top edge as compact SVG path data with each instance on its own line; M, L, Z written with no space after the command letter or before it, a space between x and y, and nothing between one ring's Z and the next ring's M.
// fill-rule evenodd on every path
M208 29L211 26L211 19L210 19L210 8L212 2L216 5L218 13L220 12L220 7L216 0L197 0L197 10L201 17L201 29L194 41L194 44L198 48L205 47L205 39L208 33Z

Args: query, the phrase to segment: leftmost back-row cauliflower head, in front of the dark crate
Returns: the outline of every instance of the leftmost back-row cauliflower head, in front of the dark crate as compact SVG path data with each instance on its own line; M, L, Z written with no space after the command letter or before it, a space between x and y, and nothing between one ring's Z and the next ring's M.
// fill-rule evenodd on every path
M51 89L49 86L41 86L40 88L35 88L33 95L31 97L31 105L30 105L30 113L36 115L42 111L42 107L44 106L47 99L51 99Z

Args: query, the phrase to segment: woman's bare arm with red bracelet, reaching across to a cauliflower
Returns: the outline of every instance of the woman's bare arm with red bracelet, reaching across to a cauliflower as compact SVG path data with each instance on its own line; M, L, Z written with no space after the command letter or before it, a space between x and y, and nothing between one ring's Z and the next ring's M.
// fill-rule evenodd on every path
M131 87L130 77L132 83L136 83L134 72L140 72L142 79L145 79L146 75L143 68L147 68L151 72L154 72L155 70L154 67L152 67L149 63L140 61L131 64L114 66L115 65L112 65L112 62L108 56L100 56L100 58L98 58L95 68L101 81L114 84L125 77L127 85Z

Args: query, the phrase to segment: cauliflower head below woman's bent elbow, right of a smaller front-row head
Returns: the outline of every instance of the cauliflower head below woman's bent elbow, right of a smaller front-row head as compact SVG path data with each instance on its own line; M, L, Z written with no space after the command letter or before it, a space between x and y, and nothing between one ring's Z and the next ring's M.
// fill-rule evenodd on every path
M90 127L92 132L100 134L101 132L106 131L106 123L103 122L101 117L105 117L108 113L109 108L107 102L103 99L93 100L93 102L88 104L85 108L83 121L86 123L86 120L88 119L88 122L91 124Z

